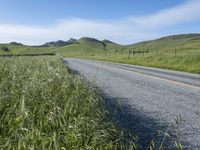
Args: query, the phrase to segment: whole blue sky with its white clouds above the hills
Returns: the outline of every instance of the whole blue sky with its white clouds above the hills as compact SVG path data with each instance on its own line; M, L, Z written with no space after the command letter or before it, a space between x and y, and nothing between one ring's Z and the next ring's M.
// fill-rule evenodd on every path
M0 43L90 36L121 44L200 32L200 0L0 0Z

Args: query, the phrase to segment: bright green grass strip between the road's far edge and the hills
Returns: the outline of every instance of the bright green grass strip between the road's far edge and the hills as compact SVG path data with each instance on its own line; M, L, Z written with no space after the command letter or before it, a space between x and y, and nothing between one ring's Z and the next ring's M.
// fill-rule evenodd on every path
M170 70L178 70L200 74L200 50L177 51L176 56L174 51L162 51L158 54L156 52L152 52L144 55L135 54L134 56L131 55L130 57L127 53L123 55L115 55L114 53L112 53L111 56L105 56L104 54L96 54L84 56L82 58L165 68Z

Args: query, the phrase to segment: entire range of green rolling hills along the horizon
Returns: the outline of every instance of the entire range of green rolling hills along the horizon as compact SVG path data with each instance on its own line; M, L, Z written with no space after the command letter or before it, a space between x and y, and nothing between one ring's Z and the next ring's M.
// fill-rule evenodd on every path
M7 47L9 50L3 50ZM79 40L69 39L68 41L48 42L40 46L27 46L21 43L12 42L9 44L0 44L1 54L35 54L60 52L64 56L79 56L85 53L104 53L129 50L145 51L167 51L171 49L178 50L198 50L200 49L200 34L181 34L162 37L155 40L139 42L131 45L119 45L109 40L97 40L90 37L83 37Z

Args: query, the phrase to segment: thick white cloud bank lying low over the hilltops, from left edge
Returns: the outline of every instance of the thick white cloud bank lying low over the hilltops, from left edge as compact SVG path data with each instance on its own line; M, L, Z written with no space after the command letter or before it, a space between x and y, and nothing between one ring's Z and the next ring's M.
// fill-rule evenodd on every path
M126 20L104 22L73 18L47 27L0 24L0 43L17 41L28 45L83 36L109 39L123 44L143 40L148 34L150 37L155 36L154 33L136 31Z

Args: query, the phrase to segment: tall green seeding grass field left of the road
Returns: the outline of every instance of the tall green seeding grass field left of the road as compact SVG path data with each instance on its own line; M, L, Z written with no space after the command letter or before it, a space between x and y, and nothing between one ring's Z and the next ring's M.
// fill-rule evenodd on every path
M57 56L0 59L0 149L135 149Z

